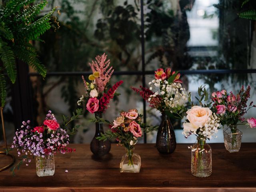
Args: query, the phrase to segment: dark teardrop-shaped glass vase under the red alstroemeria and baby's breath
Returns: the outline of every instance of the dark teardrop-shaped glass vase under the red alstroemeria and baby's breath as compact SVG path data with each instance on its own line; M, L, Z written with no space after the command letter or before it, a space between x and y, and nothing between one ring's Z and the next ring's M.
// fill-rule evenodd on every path
M176 138L170 118L162 113L162 122L156 136L156 148L162 154L171 154L176 149Z

